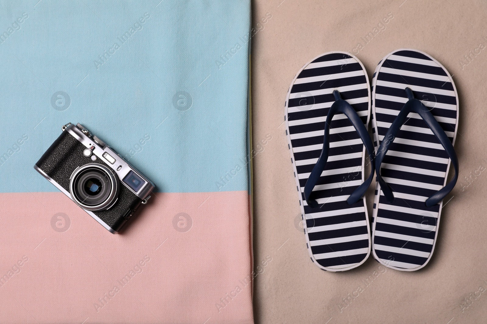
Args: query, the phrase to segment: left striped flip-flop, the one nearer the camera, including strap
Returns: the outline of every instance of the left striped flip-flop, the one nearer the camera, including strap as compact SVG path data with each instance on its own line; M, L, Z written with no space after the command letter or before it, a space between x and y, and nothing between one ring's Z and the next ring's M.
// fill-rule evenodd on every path
M286 97L286 135L311 260L338 272L370 254L363 193L370 85L362 63L341 51L324 53L300 69ZM365 126L364 126L365 125ZM374 156L367 159L374 170Z

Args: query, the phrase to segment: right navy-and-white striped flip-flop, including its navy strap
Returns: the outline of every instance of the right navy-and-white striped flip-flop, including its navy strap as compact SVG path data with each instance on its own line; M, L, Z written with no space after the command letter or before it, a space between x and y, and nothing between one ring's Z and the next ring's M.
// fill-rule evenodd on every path
M458 177L458 96L450 73L412 49L386 55L372 88L373 253L389 268L414 271L431 258L443 198ZM450 162L455 176L447 184Z

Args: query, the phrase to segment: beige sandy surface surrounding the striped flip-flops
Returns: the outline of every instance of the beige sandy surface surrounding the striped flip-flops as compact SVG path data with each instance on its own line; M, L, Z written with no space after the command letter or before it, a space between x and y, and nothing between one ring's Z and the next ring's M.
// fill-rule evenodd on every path
M254 148L272 136L253 164L254 260L272 258L255 279L255 323L486 323L486 3L281 1L252 3ZM385 24L388 15L393 18ZM362 37L374 28L380 32L366 43ZM320 53L352 52L371 78L382 57L399 48L425 51L453 75L460 98L460 177L445 199L435 251L424 269L399 272L371 256L352 271L326 273L311 262L298 225L283 124L286 93L303 64Z

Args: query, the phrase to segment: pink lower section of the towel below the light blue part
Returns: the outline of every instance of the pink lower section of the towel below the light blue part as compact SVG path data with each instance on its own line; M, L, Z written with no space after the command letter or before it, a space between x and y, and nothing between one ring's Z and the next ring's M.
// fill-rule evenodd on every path
M61 192L0 205L0 323L253 323L247 191L157 193L117 235Z

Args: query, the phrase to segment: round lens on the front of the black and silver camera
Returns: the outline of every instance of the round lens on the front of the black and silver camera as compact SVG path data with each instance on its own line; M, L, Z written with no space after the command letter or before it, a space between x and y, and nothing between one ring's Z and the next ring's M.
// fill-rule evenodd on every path
M82 208L102 210L110 208L117 200L119 183L112 170L91 163L73 172L70 190L73 200Z

